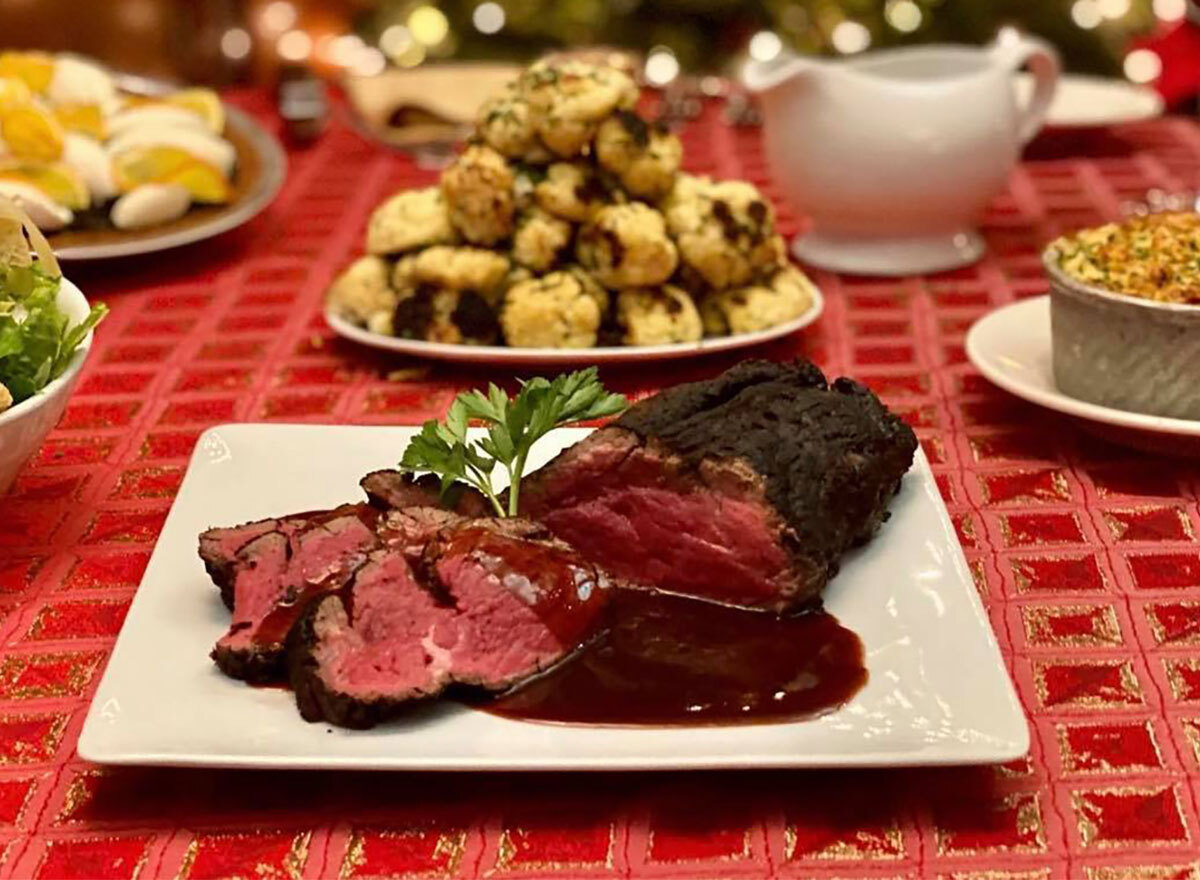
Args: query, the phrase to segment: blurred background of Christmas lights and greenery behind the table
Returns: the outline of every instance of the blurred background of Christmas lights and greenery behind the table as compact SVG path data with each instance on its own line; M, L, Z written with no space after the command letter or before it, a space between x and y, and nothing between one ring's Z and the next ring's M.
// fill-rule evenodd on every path
M648 53L654 84L748 50L979 43L1015 24L1068 70L1157 85L1178 106L1200 90L1198 13L1196 0L0 0L0 34L10 48L214 85L269 83L282 66L371 74L600 43Z

